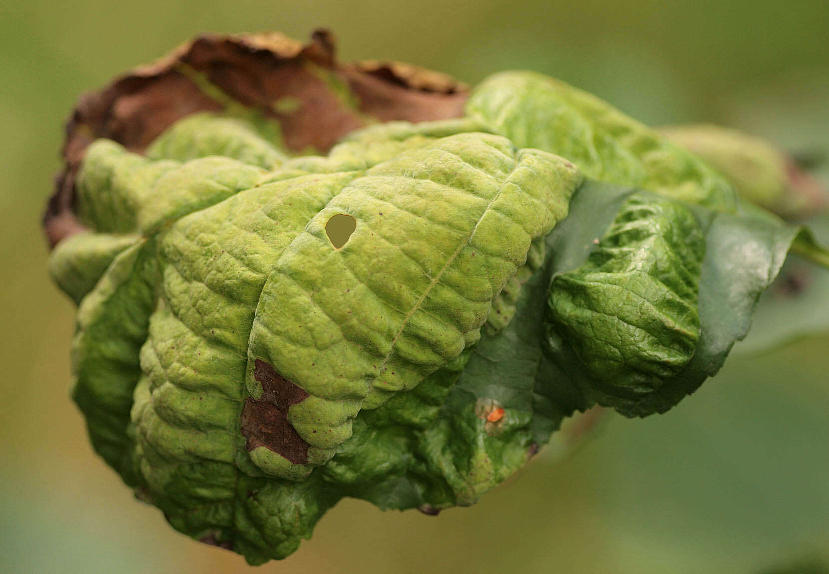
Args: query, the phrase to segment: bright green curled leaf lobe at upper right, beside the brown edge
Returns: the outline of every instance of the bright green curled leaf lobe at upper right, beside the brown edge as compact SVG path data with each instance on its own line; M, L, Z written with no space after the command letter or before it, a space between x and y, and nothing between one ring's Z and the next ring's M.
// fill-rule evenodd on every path
M593 179L734 209L730 184L705 162L560 80L535 72L492 75L473 90L466 111L517 145L567 157Z

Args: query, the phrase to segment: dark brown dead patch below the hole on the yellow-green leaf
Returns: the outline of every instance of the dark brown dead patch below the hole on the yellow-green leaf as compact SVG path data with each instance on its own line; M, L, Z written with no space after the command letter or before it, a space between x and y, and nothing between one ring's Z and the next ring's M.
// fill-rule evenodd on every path
M308 443L288 422L288 408L302 403L308 393L285 379L264 360L256 359L254 379L262 384L262 396L248 397L242 409L241 431L248 451L264 446L295 465L308 462Z

